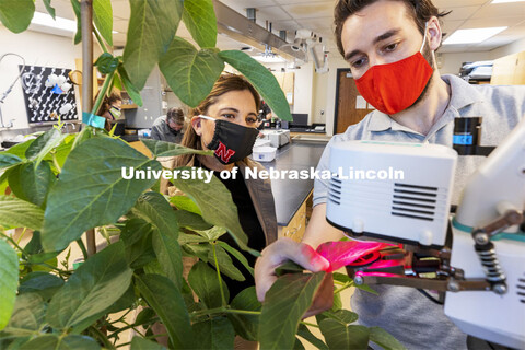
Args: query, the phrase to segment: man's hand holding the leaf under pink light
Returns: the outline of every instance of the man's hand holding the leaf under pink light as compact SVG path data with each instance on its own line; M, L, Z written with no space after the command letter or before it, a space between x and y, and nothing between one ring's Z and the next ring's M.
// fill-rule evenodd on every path
M276 268L287 260L292 260L312 272L327 270L330 266L330 262L310 245L285 237L278 240L267 246L255 262L255 288L260 302L277 280Z

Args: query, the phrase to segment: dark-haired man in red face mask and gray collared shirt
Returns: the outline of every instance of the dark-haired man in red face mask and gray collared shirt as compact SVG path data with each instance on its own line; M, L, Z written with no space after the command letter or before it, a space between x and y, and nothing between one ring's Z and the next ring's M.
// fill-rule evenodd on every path
M440 47L440 13L431 0L339 0L335 9L339 51L350 65L358 89L377 110L336 135L318 168L328 168L330 149L348 140L430 142L452 147L454 118L481 116L481 140L498 145L525 114L525 88L474 86L454 75L441 77L434 52ZM453 203L466 179L483 161L462 156ZM323 242L342 233L326 221L328 182L316 180L314 210L303 243L279 240L262 250L255 269L257 295L264 300L285 260L324 270L315 253ZM374 285L380 295L355 291L352 310L365 326L385 328L409 349L464 349L466 335L446 318L440 305L417 290ZM482 305L480 305L482 307Z

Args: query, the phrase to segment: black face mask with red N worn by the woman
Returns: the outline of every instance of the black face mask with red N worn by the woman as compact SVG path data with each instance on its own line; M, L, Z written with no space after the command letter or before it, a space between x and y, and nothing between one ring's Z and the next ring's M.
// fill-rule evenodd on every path
M219 162L232 164L252 154L259 130L223 119L213 119L208 116L199 117L215 121L215 132L211 142L206 147L215 151L214 155Z

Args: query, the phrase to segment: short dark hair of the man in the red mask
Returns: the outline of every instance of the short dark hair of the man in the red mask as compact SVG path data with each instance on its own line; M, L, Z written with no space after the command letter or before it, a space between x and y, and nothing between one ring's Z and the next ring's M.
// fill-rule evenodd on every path
M341 33L342 26L347 19L352 14L363 10L368 5L377 2L378 0L339 0L334 9L334 25L336 43L339 52L345 56L345 49L342 48ZM436 16L441 19L451 11L440 12L431 0L389 0L400 1L407 7L409 15L416 22L421 34L424 33L424 24L432 18Z

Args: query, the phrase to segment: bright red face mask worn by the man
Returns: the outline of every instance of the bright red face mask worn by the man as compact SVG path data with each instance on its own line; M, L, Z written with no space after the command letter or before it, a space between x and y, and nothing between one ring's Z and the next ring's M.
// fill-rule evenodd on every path
M433 69L419 52L387 65L371 67L355 80L360 94L377 110L392 115L410 107L421 95Z

